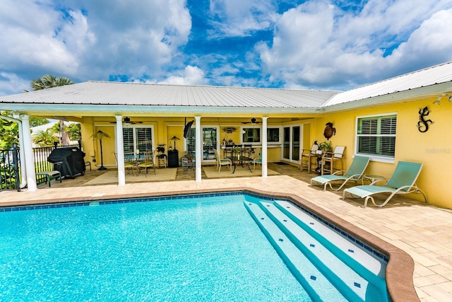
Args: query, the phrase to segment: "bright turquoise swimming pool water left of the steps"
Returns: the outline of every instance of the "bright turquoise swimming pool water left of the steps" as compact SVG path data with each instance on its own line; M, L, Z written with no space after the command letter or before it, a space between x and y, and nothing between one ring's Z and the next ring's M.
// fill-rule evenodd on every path
M9 208L0 298L311 301L250 219L256 197L207 197Z

